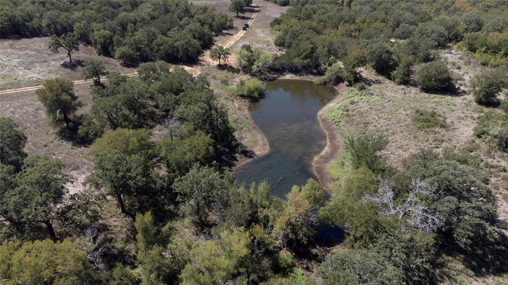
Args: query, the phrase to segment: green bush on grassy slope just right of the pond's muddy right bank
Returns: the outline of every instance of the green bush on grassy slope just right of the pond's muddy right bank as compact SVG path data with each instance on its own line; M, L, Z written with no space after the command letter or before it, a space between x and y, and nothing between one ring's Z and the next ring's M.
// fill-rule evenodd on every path
M378 155L388 145L388 139L383 135L365 134L349 136L346 138L345 147L351 154L353 167L366 166L374 173L381 173L385 168L385 160Z

